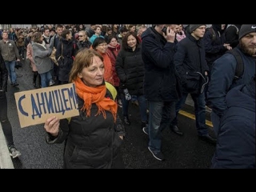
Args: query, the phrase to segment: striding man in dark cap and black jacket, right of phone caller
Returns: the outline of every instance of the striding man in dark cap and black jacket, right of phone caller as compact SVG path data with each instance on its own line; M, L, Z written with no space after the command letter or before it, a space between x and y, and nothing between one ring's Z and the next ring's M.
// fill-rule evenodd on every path
M206 126L206 102L204 87L208 82L209 68L206 63L205 48L202 37L206 32L205 24L190 25L190 34L177 44L174 54L174 65L182 79L182 98L176 103L176 118L172 121L170 128L176 134L182 135L178 130L178 111L186 102L190 94L194 101L194 114L198 138L203 141L216 143L216 139L210 137Z

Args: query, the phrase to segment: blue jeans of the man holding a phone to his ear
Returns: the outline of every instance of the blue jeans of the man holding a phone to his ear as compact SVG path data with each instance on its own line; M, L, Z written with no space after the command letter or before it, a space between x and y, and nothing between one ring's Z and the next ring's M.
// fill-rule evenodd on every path
M161 131L170 126L175 118L175 102L148 102L149 103L149 147L158 153L161 151Z

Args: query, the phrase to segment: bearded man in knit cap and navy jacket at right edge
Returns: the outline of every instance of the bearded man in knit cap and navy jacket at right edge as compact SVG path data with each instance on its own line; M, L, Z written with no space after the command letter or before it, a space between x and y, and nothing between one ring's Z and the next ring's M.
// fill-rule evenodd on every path
M211 121L213 122L216 136L218 135L219 120L226 110L226 93L234 86L248 83L254 77L256 57L255 24L241 26L239 44L233 50L241 55L242 62L238 62L238 56L234 56L228 51L221 58L214 61L210 75L208 102L210 102L210 107L212 108ZM238 70L236 72L236 69L240 69L243 72L241 73Z

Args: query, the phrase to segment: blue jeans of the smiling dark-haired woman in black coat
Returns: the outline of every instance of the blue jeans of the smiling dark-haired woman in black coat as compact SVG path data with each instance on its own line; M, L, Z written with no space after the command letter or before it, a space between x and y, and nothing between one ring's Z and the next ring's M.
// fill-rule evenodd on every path
M139 113L141 115L142 122L147 122L147 115L146 115L146 98L144 95L137 95L138 100L138 107L139 107ZM124 94L122 94L122 115L128 117L128 106L129 102L124 97Z

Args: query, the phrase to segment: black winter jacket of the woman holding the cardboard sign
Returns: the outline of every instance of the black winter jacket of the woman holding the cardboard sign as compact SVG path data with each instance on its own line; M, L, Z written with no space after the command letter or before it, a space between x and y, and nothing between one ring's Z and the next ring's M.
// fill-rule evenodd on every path
M106 91L106 98L112 98L110 91ZM83 106L82 98L78 98L78 109ZM58 138L52 138L47 134L46 142L62 143L66 140L64 152L64 168L66 169L110 169L120 167L120 147L125 135L122 120L114 117L106 111L106 119L102 114L97 114L98 107L93 104L90 117L79 110L79 116L73 117L70 123L67 119L60 120L60 132Z

